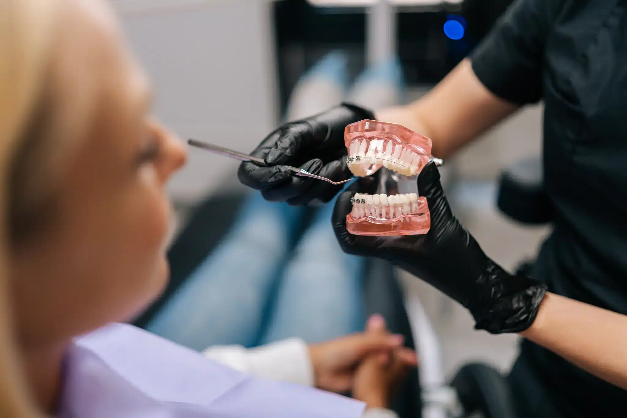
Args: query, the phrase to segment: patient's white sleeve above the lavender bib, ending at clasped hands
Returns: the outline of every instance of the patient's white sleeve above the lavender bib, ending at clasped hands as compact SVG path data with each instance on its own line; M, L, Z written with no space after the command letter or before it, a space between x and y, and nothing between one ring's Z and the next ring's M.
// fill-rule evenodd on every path
M246 349L241 345L213 346L203 354L229 367L266 379L314 386L307 344L299 338L288 338Z

